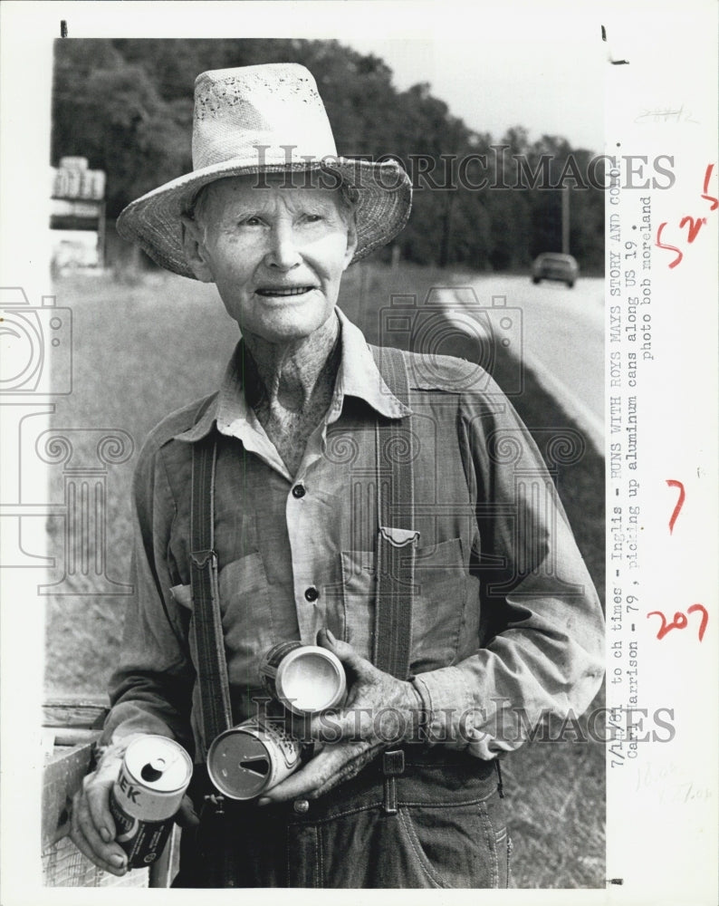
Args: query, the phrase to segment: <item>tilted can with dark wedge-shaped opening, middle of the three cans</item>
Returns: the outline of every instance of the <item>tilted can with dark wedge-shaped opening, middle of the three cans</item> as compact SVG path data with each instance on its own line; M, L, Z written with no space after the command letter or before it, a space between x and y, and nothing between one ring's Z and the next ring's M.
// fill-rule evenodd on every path
M302 743L281 719L250 718L213 740L207 773L228 798L254 799L290 776L301 755Z

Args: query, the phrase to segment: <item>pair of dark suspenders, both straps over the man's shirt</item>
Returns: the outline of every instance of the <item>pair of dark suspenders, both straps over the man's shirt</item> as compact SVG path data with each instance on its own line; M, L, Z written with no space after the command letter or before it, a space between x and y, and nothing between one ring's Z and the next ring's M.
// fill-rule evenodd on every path
M407 403L407 369L398 350L371 347L389 390ZM398 679L407 679L412 645L412 590L415 545L412 460L416 451L407 419L383 419L375 431L377 463L377 597L374 663ZM206 747L232 726L225 642L217 590L214 497L214 432L195 443L192 452L190 585L197 645Z

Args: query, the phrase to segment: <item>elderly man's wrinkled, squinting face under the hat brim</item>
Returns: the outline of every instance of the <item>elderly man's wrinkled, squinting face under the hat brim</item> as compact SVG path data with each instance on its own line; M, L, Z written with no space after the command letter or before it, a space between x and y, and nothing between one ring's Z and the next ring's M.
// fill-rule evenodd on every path
M289 342L330 317L356 247L339 191L283 188L283 177L218 180L206 188L197 224L186 222L186 255L214 282L243 333Z

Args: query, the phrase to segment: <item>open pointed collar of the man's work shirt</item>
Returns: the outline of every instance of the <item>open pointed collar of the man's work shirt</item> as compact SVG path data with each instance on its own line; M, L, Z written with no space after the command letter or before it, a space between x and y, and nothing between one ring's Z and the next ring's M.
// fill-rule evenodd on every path
M358 397L388 419L403 419L411 411L389 390L374 356L369 350L363 333L351 323L346 315L335 309L340 321L342 357L337 375L334 394L327 414L327 423L340 418L344 398ZM209 404L202 417L192 428L175 436L176 440L194 443L209 433L214 424L221 434L242 437L245 428L257 429L254 410L244 399L244 343L237 343L235 352L227 364L225 377L219 392Z

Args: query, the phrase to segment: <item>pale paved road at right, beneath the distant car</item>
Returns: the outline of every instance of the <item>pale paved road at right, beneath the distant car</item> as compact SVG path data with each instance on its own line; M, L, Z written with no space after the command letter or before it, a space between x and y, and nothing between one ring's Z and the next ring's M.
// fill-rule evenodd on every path
M545 390L558 400L589 436L604 450L604 281L580 277L572 289L564 284L532 284L529 277L489 276L474 279L471 286L479 305L489 309L493 296L504 296L509 324L509 348L537 376ZM466 292L445 290L441 303L447 317L459 328L460 312L472 306ZM496 307L496 306L495 306ZM522 342L516 324L522 321ZM501 318L490 316L497 337L505 338L498 325ZM500 340L501 342L501 340Z

